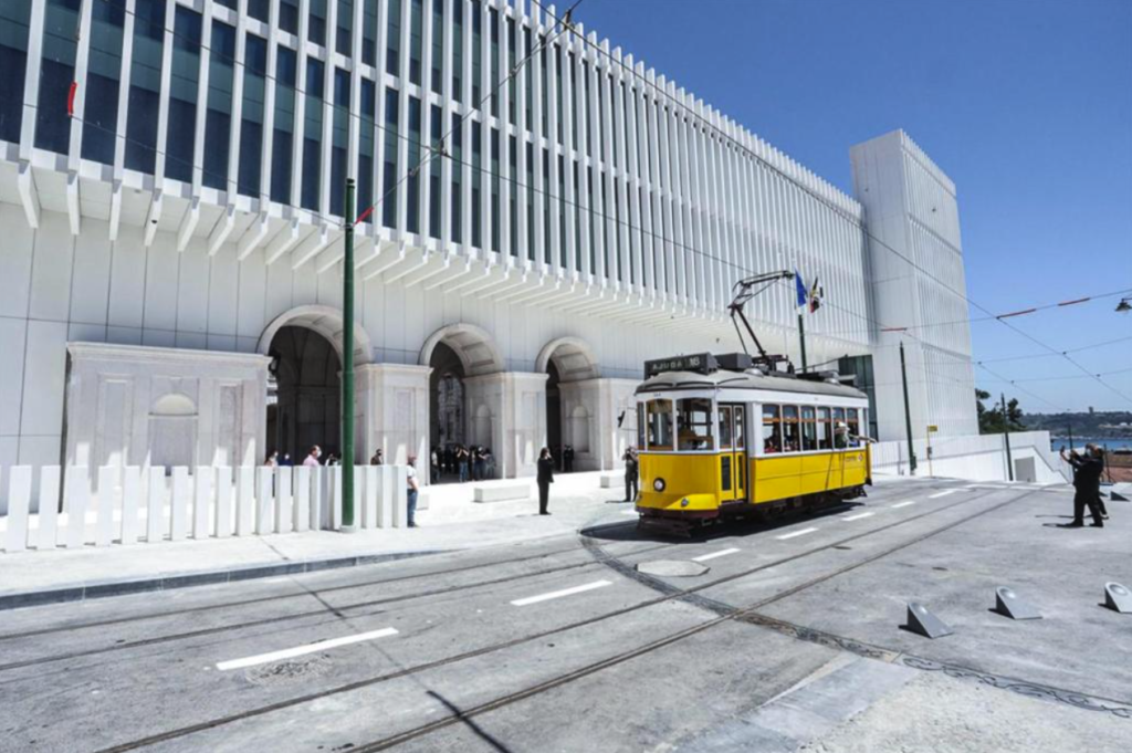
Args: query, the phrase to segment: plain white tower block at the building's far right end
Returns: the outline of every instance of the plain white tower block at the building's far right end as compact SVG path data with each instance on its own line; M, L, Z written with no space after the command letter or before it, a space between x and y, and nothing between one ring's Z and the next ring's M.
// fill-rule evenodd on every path
M912 436L978 434L967 282L955 185L902 130L850 149L865 208L878 439L906 435L900 343Z

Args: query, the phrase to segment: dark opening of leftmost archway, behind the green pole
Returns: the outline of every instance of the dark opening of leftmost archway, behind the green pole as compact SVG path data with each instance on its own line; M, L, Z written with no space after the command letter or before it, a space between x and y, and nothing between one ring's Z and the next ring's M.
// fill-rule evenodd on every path
M267 448L298 464L311 445L341 454L342 362L334 345L305 327L280 327L271 340L267 377Z

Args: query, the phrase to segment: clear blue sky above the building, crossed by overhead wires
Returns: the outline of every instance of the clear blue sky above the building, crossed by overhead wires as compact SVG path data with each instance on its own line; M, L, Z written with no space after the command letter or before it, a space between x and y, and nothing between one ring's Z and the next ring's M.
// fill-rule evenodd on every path
M1132 0L584 0L575 18L849 194L850 145L903 128L958 186L968 297L992 311L1132 288ZM1057 350L1132 337L1117 300L1011 323ZM971 335L976 360L1047 352L993 320ZM1073 358L1132 369L1132 340ZM1132 410L1132 370L1105 377L1125 400L1049 379L1081 375L1060 357L987 366L1020 382L980 386L1024 410Z

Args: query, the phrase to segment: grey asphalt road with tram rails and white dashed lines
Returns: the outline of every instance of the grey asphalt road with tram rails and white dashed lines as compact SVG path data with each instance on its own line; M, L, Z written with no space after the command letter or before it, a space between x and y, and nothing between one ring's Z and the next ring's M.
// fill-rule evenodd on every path
M1126 662L1060 658L1066 636L1132 656L1096 583L1043 592L1063 624L1036 639L969 593L1021 562L1038 598L1036 550L1126 576L1129 527L1034 520L1065 499L914 480L693 540L641 534L620 506L572 537L3 613L0 750L794 750L901 692L924 671L909 656L1126 703ZM636 572L655 561L710 570ZM955 639L901 631L911 599L947 609Z

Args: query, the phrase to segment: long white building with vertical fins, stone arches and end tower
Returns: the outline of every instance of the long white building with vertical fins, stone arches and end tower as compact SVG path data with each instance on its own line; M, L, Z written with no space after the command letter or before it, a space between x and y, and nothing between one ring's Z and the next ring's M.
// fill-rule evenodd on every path
M812 365L872 357L881 438L901 341L914 434L976 434L946 176L897 131L847 196L556 12L3 2L0 467L336 448L348 178L359 461L615 468L643 361L736 350L732 284L777 269L824 289ZM747 314L798 362L792 282Z

